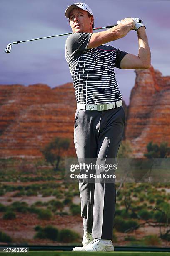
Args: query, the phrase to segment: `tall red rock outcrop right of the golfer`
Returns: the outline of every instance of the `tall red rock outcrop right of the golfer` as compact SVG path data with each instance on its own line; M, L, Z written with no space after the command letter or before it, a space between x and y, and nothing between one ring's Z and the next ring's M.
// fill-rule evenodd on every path
M170 76L163 77L153 67L135 72L125 138L132 143L134 156L143 157L149 141L170 143Z

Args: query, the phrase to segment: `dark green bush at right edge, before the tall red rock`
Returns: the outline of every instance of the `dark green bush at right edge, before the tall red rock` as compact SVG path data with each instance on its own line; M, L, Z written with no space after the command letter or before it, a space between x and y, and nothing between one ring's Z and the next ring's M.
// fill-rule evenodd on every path
M158 146L158 144L154 144L153 141L150 141L146 147L148 153L145 153L144 156L147 158L167 158L170 156L168 142L162 142L160 143L160 146Z

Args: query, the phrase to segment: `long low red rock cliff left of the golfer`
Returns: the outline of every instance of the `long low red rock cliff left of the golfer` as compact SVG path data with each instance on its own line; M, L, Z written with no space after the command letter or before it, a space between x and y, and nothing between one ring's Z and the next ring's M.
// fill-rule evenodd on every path
M68 155L75 156L72 83L55 88L45 84L1 85L0 89L1 158L42 157L40 147L56 136L70 138Z

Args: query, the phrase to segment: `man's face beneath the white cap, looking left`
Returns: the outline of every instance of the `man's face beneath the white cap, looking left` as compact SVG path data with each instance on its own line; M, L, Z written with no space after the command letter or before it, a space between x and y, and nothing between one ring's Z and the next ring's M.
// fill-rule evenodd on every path
M92 33L91 25L93 23L93 18L89 17L85 10L80 8L73 9L69 14L69 23L73 33Z

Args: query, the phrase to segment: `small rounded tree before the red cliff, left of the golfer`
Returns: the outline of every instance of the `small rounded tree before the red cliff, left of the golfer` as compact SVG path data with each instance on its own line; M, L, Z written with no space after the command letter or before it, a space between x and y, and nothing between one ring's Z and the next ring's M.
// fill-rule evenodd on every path
M58 169L62 156L66 153L70 146L68 138L54 138L45 148L40 149L47 162L52 164L54 170Z

